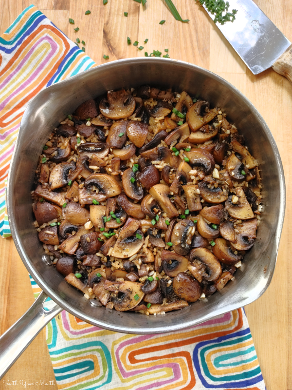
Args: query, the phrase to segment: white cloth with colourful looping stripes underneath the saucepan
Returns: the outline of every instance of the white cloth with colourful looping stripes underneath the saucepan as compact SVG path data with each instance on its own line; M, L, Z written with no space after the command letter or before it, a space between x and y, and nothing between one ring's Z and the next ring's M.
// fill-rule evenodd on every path
M92 66L34 6L0 38L3 237L10 235L5 180L28 101L46 86ZM40 289L32 278L31 284L37 296ZM46 336L59 390L265 389L243 309L183 331L154 335L106 331L63 311L46 327Z

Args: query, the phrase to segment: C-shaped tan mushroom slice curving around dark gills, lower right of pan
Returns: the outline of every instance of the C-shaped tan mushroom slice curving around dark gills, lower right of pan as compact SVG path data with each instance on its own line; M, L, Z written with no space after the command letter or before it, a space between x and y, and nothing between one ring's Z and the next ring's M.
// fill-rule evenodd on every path
M208 282L214 282L219 279L222 269L218 259L206 248L195 248L190 252L190 261L199 260L203 263L207 272L204 274L204 279Z

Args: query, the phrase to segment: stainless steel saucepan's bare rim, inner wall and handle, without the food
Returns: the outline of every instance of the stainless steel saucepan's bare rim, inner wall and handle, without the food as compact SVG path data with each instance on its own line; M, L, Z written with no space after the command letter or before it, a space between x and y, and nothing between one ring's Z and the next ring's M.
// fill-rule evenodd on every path
M38 156L52 129L83 101L108 90L143 84L210 101L227 113L246 139L259 163L263 181L265 212L256 244L244 257L236 281L205 302L164 315L140 315L96 307L70 286L64 277L43 260L43 247L34 228L32 199ZM41 91L28 105L8 177L9 223L18 253L29 273L43 290L34 305L0 338L0 377L11 367L39 331L63 309L82 320L111 331L162 333L199 324L255 301L269 286L276 263L285 211L285 181L280 155L264 119L253 104L223 78L183 61L136 58L113 61L61 81ZM51 310L43 303L51 297Z

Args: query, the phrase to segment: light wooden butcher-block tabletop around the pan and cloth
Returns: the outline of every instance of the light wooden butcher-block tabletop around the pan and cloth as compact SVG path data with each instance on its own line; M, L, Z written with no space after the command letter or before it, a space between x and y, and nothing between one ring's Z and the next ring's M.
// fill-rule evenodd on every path
M164 0L147 0L146 6L133 0L0 0L0 34L28 5L34 3L73 41L86 42L86 53L97 63L144 56L144 51L169 49L169 56L210 69L235 85L265 118L277 142L284 165L287 207L280 252L272 283L264 295L246 307L256 352L267 390L292 390L292 86L269 69L254 76L237 56L214 23L195 0L174 0L183 19L176 21ZM292 40L292 1L256 0L258 6ZM90 15L85 11L90 10ZM124 17L128 12L128 18ZM69 24L69 18L75 25ZM160 20L166 20L163 25ZM78 33L74 27L79 27ZM140 51L127 44L139 41ZM144 44L144 40L148 42ZM0 239L0 331L11 326L32 304L28 273L13 240ZM54 372L44 332L19 358L3 379L53 380ZM0 389L3 389L2 381ZM14 386L10 386L14 388ZM29 389L40 389L29 386ZM56 386L44 386L56 389Z

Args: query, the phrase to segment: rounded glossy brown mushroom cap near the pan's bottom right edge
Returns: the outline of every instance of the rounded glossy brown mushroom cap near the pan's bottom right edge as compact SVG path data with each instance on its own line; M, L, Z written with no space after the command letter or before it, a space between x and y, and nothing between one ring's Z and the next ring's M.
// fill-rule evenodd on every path
M185 272L178 273L173 279L173 290L188 302L196 302L202 294L200 283Z

